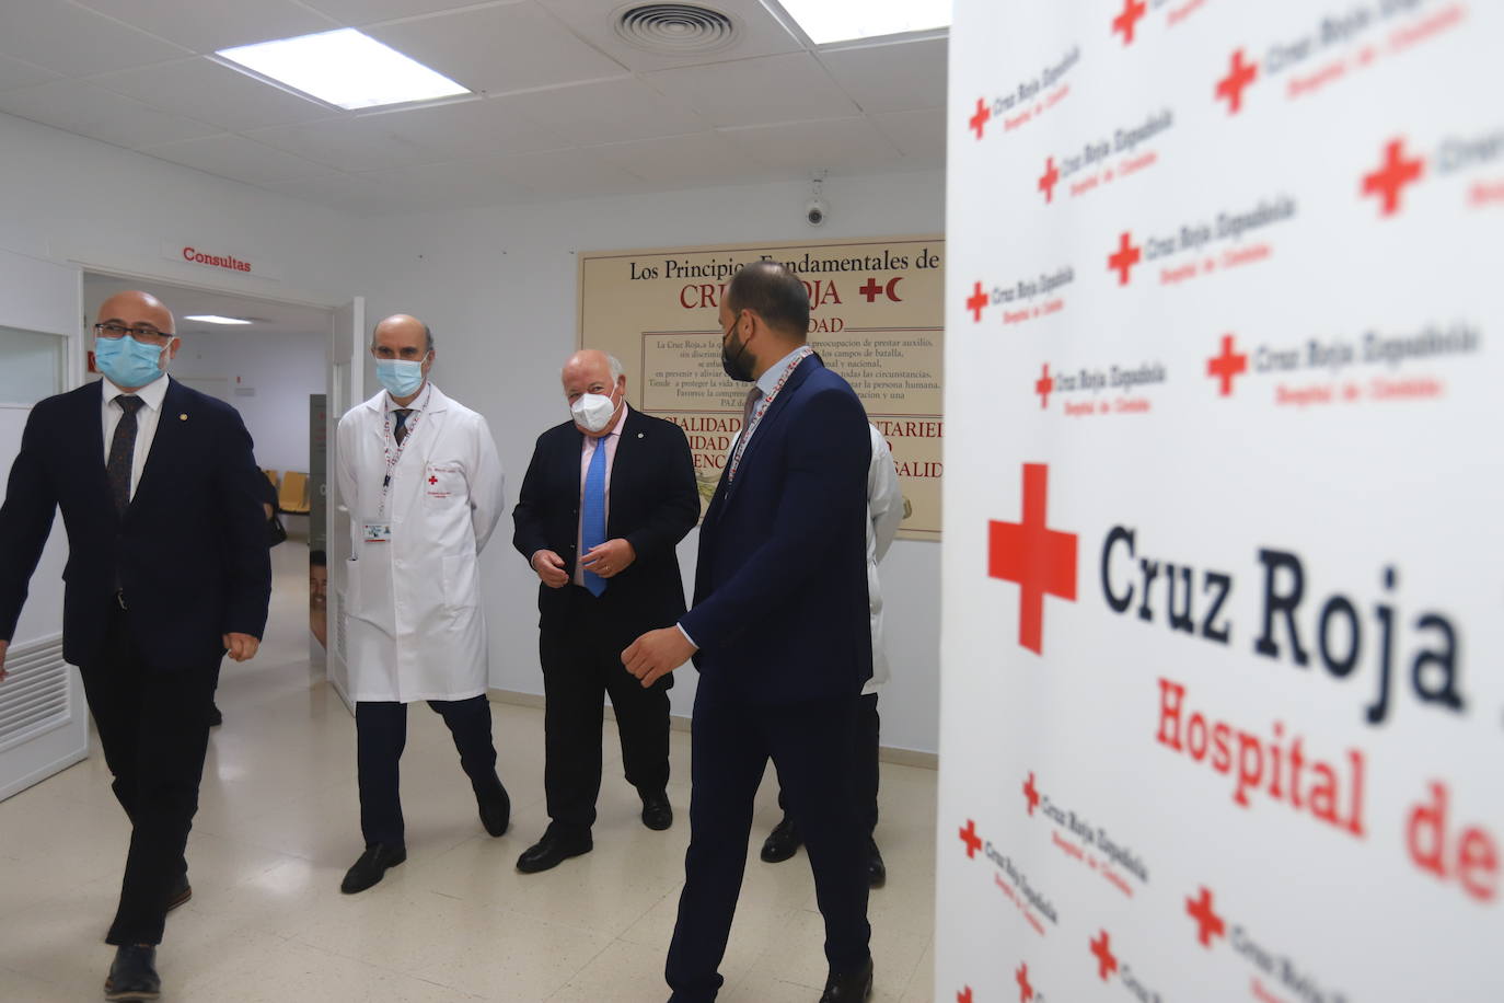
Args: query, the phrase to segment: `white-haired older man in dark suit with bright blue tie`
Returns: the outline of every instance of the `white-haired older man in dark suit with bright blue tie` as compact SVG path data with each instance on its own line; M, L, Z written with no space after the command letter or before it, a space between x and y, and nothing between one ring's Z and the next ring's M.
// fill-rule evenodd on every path
M641 687L621 650L684 612L678 541L699 493L684 432L627 406L627 376L605 352L562 371L572 420L538 436L513 511L514 543L538 576L549 827L517 860L534 874L593 847L602 699L611 695L642 824L668 829L669 678Z

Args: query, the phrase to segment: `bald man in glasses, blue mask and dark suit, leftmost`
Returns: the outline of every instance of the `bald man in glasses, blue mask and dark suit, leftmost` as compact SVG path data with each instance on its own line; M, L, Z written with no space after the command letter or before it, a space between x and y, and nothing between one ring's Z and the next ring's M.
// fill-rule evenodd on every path
M155 1000L167 911L193 895L220 660L256 654L271 559L251 436L233 408L162 371L177 353L155 296L99 307L104 379L32 409L0 507L0 681L27 585L63 513L63 659L80 668L114 795L131 820L107 1000Z

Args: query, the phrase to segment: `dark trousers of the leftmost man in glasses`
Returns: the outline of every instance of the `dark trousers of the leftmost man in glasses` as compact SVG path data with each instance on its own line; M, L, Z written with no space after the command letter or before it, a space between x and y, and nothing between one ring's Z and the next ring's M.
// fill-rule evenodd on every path
M131 818L120 905L105 940L159 944L199 811L215 663L146 665L129 614L111 601L108 618L98 662L80 668L114 795Z

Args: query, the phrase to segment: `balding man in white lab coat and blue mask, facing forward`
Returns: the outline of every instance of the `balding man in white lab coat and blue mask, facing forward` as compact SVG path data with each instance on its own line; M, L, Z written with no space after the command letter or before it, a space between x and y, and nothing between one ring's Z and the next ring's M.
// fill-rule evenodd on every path
M408 704L444 717L469 776L481 824L507 830L511 801L496 776L486 701L486 618L478 555L505 502L486 420L429 382L433 334L406 314L371 335L382 392L338 430L340 493L350 511L346 617L350 699L365 851L347 895L408 859L397 762Z

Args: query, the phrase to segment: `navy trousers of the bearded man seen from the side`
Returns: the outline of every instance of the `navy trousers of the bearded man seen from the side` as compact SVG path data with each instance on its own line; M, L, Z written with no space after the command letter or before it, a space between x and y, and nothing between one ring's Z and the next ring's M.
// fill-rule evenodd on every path
M666 968L674 1003L713 1000L720 988L716 968L731 935L752 800L769 758L805 836L815 899L826 919L826 959L841 973L866 964L866 854L854 853L862 829L850 767L856 714L854 696L778 707L695 707L689 853Z

